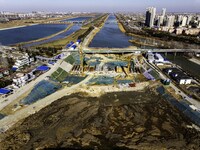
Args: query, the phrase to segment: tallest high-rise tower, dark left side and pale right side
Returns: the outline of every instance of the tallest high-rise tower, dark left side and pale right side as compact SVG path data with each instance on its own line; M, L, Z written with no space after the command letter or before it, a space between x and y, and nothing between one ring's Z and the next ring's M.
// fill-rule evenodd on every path
M147 8L146 21L145 21L146 26L148 26L148 27L154 26L155 16L156 16L156 8L154 8L154 7Z

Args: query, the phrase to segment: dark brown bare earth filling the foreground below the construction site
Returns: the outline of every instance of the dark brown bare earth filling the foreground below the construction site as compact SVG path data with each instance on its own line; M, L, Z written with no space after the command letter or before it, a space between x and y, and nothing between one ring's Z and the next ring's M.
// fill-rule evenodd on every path
M190 121L149 90L84 95L63 97L28 117L1 135L0 149L200 147L200 133L186 127Z

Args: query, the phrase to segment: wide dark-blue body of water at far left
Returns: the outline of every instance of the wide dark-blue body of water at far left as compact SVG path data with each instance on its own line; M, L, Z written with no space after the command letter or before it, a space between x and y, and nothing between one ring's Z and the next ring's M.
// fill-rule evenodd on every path
M66 24L39 24L15 29L1 30L0 43L11 45L50 36L67 28Z

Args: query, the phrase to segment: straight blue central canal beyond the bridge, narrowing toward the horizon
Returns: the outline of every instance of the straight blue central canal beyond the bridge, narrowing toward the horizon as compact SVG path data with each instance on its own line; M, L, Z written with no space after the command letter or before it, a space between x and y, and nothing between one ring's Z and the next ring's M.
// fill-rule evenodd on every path
M116 17L110 15L104 27L97 33L89 47L102 47L102 48L125 48L132 44L129 40L132 37L124 34L118 27Z

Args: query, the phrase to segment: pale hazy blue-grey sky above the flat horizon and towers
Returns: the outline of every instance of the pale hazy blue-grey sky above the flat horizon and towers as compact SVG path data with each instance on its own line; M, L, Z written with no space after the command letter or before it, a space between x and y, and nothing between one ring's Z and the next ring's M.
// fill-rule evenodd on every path
M155 6L168 12L200 12L200 0L0 0L0 11L129 11Z

